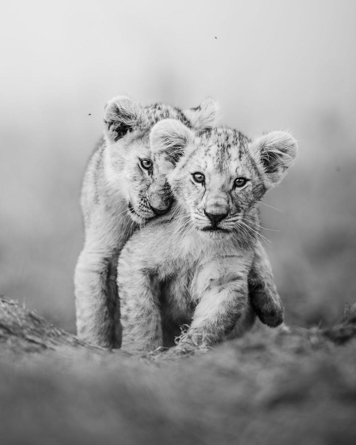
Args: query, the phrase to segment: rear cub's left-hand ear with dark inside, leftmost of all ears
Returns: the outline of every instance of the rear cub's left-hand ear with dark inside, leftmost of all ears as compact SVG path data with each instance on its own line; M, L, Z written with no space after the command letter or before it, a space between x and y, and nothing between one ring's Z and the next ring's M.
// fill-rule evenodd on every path
M144 130L147 126L142 106L128 96L113 97L105 105L104 134L116 142L129 131Z

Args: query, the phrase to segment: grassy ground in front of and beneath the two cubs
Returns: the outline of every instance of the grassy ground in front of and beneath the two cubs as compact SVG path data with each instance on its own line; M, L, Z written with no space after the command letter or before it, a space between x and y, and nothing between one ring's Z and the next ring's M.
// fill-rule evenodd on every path
M0 296L0 442L355 444L356 305L330 328L133 356Z

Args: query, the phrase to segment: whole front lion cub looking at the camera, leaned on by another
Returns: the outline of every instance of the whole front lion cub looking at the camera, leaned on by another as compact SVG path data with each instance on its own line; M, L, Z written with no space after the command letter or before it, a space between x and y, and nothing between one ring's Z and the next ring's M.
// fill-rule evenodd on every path
M153 127L150 143L174 203L121 251L122 346L162 346L162 314L190 325L180 344L216 344L254 321L248 278L259 246L258 202L282 180L297 144L281 131L253 142L227 127L197 135L171 119Z

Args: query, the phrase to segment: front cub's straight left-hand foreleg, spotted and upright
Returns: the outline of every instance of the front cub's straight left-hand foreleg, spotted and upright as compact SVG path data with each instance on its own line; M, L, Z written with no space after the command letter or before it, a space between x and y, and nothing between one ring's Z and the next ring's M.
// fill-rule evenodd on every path
M120 298L121 348L151 351L163 345L158 286L150 274L137 265L128 249L121 252L117 269Z

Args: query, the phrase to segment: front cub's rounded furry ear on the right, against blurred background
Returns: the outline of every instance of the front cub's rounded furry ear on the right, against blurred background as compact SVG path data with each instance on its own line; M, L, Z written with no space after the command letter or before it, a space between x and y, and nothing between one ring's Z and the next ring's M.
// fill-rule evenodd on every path
M251 151L263 170L267 189L282 181L297 154L297 142L286 131L271 131L255 139Z

